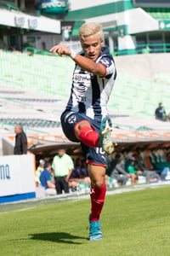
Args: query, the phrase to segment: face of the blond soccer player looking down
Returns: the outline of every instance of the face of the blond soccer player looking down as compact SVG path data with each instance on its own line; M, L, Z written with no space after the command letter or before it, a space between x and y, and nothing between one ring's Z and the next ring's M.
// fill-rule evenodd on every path
M85 56L92 61L96 61L100 55L103 40L97 35L91 35L84 38L81 44Z

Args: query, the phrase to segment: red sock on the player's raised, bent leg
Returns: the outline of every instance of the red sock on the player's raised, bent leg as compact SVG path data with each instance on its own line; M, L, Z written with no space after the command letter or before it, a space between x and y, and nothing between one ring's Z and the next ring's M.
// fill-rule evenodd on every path
M94 131L93 128L83 126L79 131L78 137L80 137L82 143L84 143L88 147L99 147L99 134Z

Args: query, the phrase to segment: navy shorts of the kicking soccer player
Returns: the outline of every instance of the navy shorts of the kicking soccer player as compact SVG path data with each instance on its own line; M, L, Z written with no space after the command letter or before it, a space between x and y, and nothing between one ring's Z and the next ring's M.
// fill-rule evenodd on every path
M71 142L80 143L75 136L74 127L82 120L87 120L98 133L100 131L100 122L90 119L82 113L65 111L61 114L60 120L65 137L67 137ZM81 143L81 146L88 162L94 163L97 166L107 166L107 154L105 154L102 148L89 148L83 143Z

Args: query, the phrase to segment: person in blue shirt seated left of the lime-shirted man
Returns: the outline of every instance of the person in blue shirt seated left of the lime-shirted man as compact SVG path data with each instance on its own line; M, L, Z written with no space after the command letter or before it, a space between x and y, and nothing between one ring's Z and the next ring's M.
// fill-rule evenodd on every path
M40 182L45 189L46 195L56 195L55 184L53 183L53 171L49 162L44 163L44 169L40 174Z

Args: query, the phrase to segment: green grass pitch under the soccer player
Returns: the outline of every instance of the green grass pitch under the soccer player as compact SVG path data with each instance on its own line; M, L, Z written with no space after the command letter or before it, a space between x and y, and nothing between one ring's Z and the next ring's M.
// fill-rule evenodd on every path
M0 255L169 256L169 196L169 186L107 195L100 241L88 241L89 200L0 206Z

